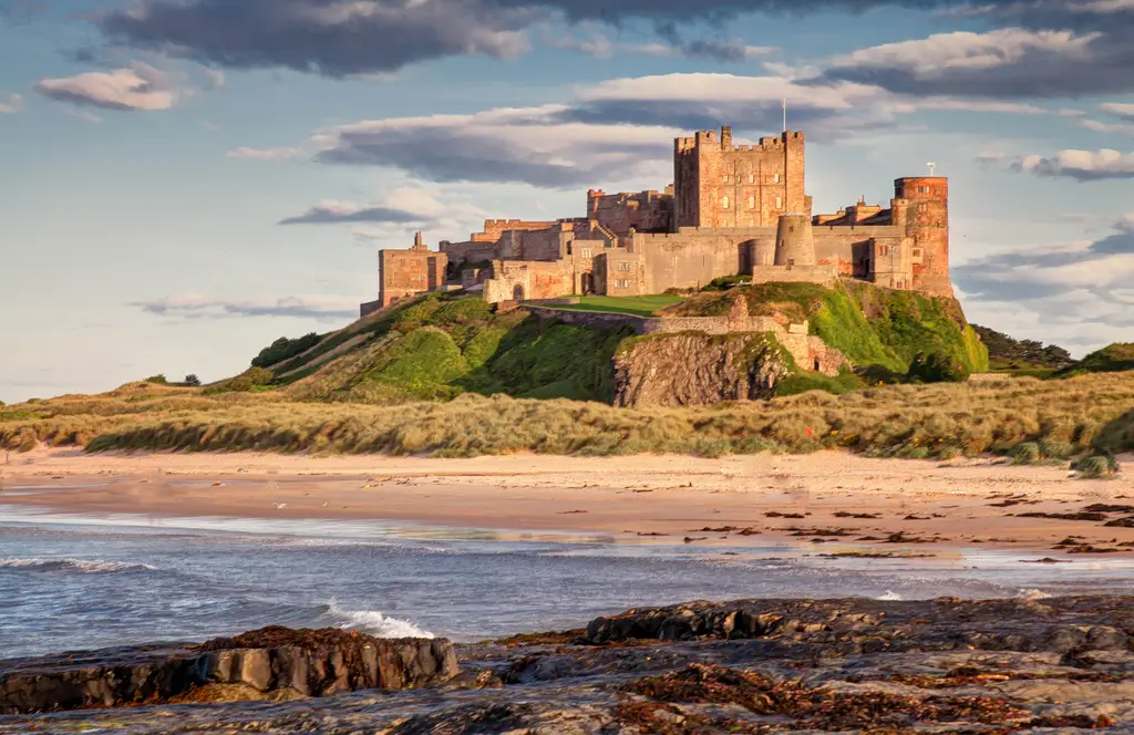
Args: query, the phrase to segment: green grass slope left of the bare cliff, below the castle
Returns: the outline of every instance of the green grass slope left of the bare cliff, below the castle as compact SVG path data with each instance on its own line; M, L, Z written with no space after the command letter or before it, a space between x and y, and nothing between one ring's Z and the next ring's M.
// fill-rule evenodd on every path
M319 402L400 404L465 392L609 400L610 357L626 336L430 294L274 365L273 385L289 398Z

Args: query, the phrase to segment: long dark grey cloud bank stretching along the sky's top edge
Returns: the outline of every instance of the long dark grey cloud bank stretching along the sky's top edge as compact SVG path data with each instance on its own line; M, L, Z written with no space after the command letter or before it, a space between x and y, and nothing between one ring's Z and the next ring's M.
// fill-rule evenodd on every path
M392 71L450 56L513 58L535 24L652 22L679 53L744 61L731 40L689 40L680 24L738 14L803 16L879 7L973 7L981 0L139 0L104 14L111 42L235 68L289 68L332 77ZM993 2L993 6L997 3Z

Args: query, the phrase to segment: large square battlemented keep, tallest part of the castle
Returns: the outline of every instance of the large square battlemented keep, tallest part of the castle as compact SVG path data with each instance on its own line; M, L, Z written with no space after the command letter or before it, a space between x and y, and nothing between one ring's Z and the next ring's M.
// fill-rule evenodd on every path
M772 227L807 212L804 135L789 130L734 145L733 128L674 140L674 228Z

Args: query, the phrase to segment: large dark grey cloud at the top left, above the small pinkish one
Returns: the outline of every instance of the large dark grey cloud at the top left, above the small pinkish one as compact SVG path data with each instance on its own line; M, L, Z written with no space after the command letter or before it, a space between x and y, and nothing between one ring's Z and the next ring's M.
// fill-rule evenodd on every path
M111 41L218 66L344 77L450 56L515 58L538 15L480 0L142 0L99 25Z

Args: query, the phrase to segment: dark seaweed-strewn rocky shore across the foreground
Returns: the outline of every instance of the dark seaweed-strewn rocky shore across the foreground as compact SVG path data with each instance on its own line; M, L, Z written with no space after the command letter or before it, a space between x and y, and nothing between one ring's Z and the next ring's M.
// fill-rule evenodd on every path
M152 665L169 657L297 648L289 636L298 633L271 631L135 656ZM387 647L389 658L378 658L414 664L382 685L412 688L363 688L374 679L336 675L330 686L263 696L312 681L281 667L290 678L280 676L274 690L265 690L262 679L239 682L270 701L220 698L223 703L186 706L174 699L129 709L7 716L0 717L0 733L33 727L332 735L1134 732L1134 597L700 601L629 610L576 631L455 648L441 640L375 641L338 633L298 649L325 656ZM272 660L282 658L276 653ZM88 669L98 665L82 661ZM459 662L459 673L450 662ZM0 662L5 687L12 682L12 664ZM25 671L20 681L27 681L33 664L17 664L16 673ZM361 691L305 695L345 688Z

